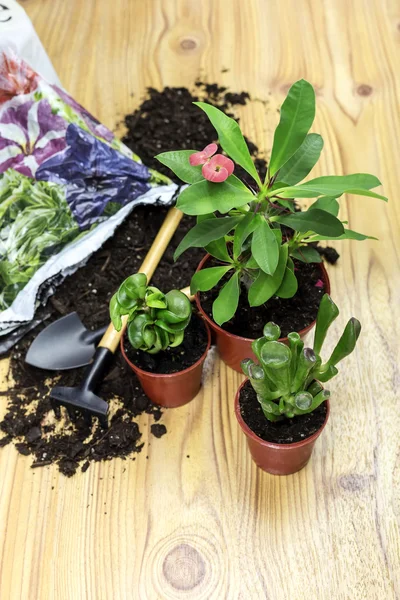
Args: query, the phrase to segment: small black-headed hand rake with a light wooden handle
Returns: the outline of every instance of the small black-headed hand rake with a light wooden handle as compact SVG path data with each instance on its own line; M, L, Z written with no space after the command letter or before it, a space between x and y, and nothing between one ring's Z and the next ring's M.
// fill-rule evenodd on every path
M168 211L164 223L139 269L139 272L147 275L148 280L153 275L181 218L182 213L176 208L171 208ZM104 378L106 370L118 348L127 320L128 315L124 315L120 331L116 331L112 323L109 324L97 346L91 364L87 367L83 375L83 380L79 387L57 386L53 388L50 393L50 400L56 414L59 412L60 405L62 405L68 410L71 419L76 417L77 412L81 412L88 422L91 421L92 416L95 416L98 417L102 427L107 427L108 403L97 396L95 392ZM51 348L49 351L51 351Z

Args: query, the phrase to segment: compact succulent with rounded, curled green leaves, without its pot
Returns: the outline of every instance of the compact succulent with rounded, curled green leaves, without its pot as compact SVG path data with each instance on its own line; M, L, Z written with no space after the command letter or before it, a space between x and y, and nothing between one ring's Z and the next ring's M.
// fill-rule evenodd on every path
M128 316L128 339L136 350L157 354L179 346L192 316L190 300L179 290L163 294L147 285L144 273L131 275L110 301L110 317L120 331L122 317Z

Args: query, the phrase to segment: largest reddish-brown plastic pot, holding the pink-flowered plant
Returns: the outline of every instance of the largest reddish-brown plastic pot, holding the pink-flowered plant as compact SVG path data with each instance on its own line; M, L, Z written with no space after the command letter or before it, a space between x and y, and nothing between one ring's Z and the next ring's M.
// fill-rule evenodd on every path
M201 260L199 266L197 267L196 273L204 267L205 263L209 259L210 255L206 254L206 256ZM329 282L328 273L322 263L319 263L318 266L321 269L321 279L324 282L325 292L327 294L330 294L331 286ZM218 352L222 360L225 364L228 365L228 367L231 367L235 371L242 373L242 369L240 367L240 363L242 362L242 360L244 358L253 358L255 360L255 356L251 349L251 344L252 342L254 342L254 339L241 337L239 335L229 333L228 331L225 331L225 329L222 329L222 327L220 327L215 323L215 321L210 319L208 314L203 310L200 303L199 293L196 294L195 299L197 308L199 309L203 319L208 323L208 325L212 329L212 332L214 333ZM300 337L304 338L304 336L314 327L314 325L315 320L312 323L310 323L310 325L307 325L307 327L304 327L304 329L299 331L298 333ZM283 342L284 344L288 343L287 337L280 338L279 341Z

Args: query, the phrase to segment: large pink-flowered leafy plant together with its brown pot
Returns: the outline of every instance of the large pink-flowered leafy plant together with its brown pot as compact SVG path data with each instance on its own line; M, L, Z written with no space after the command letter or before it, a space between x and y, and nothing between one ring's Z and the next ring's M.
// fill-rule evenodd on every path
M207 252L191 291L216 333L223 360L240 371L240 361L249 356L267 321L280 325L285 343L290 331L303 337L314 326L321 297L330 293L315 243L369 237L345 227L338 218L338 198L349 193L387 199L371 191L380 181L364 173L301 183L323 148L322 137L308 133L315 94L307 81L297 81L282 105L263 181L238 123L210 104L196 104L209 117L228 156L218 154L217 144L211 143L200 152L166 152L157 158L189 184L177 207L197 216L197 224L175 258L190 247ZM250 185L234 174L238 166ZM299 211L297 198L313 203Z

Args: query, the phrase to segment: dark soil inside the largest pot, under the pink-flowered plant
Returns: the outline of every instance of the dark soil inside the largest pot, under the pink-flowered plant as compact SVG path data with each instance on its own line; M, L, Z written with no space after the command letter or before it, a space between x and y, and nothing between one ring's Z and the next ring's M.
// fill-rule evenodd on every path
M294 261L298 290L293 298L271 298L265 304L250 307L247 290L242 285L238 310L233 319L224 323L222 328L245 338L257 339L262 336L263 327L268 321L277 323L281 328L281 336L286 337L291 331L301 331L312 323L318 312L319 303L325 290L320 287L321 270L318 264L306 264ZM207 267L218 265L216 259L210 259ZM200 294L203 310L212 319L212 305L228 276L209 292Z

